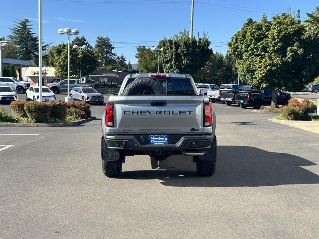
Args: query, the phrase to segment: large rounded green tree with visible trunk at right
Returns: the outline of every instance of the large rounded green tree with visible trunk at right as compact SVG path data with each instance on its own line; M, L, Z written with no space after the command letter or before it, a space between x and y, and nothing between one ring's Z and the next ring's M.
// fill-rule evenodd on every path
M310 82L319 70L319 42L303 39L303 25L288 14L265 16L260 22L248 19L229 43L242 80L259 88L271 88L272 106L277 90L296 91Z

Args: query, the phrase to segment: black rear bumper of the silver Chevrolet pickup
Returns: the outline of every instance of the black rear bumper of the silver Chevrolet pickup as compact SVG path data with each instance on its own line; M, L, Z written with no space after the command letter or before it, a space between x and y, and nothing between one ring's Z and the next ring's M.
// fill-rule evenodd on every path
M143 145L138 138L132 135L105 135L104 141L108 149L131 151L179 151L184 155L201 156L211 147L214 135L182 136L175 144Z

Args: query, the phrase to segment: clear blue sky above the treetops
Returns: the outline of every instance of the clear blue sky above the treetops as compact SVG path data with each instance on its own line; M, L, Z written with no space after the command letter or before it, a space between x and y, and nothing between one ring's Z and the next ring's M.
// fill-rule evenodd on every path
M58 44L66 36L58 28L80 30L94 43L97 36L108 36L115 53L136 62L135 46L157 45L163 37L190 28L190 0L42 0L43 41ZM279 12L301 10L302 20L318 0L195 0L194 34L207 32L214 51L226 53L226 42L248 17L260 20ZM1 0L0 36L10 33L17 19L29 18L37 33L37 0ZM8 10L3 10L8 9Z

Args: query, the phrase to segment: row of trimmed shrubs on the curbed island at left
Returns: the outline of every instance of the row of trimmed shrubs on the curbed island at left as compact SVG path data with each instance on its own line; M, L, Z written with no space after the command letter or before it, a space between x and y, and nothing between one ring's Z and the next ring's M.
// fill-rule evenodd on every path
M35 123L69 122L91 116L91 106L84 102L13 101L10 107L17 117Z

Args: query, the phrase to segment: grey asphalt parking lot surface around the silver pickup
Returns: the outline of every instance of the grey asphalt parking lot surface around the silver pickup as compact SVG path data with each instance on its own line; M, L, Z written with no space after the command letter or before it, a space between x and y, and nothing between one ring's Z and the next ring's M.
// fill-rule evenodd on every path
M268 122L276 113L214 110L208 178L183 156L158 169L127 157L106 178L103 106L80 127L0 128L0 238L318 238L319 136Z

